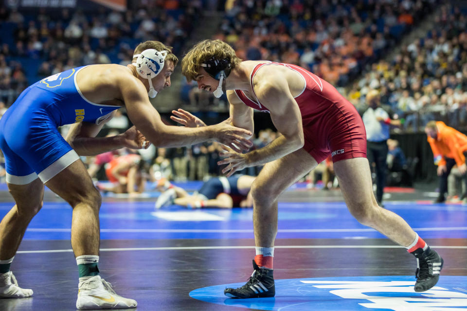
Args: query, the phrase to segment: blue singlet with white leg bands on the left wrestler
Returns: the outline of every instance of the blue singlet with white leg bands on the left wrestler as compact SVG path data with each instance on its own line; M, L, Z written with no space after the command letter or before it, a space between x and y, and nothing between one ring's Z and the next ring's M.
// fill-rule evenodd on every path
M0 120L0 148L6 181L25 185L38 177L46 183L79 156L58 126L85 121L99 124L120 106L94 104L83 97L73 68L26 88Z

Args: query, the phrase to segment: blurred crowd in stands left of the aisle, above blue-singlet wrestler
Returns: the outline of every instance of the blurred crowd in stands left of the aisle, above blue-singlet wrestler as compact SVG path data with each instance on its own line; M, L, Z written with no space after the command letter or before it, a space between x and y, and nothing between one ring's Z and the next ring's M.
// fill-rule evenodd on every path
M45 9L18 12L0 5L0 100L7 106L30 84L83 65L131 62L133 49L159 40L180 54L205 1L132 1L126 12Z

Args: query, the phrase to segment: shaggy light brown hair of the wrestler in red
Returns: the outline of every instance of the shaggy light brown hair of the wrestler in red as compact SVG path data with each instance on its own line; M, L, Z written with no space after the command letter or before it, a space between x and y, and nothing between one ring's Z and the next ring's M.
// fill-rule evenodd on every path
M219 60L229 60L231 69L234 69L242 61L235 55L234 49L227 43L221 40L204 40L198 42L183 56L181 60L181 73L183 73L188 81L195 80L201 64L212 57Z

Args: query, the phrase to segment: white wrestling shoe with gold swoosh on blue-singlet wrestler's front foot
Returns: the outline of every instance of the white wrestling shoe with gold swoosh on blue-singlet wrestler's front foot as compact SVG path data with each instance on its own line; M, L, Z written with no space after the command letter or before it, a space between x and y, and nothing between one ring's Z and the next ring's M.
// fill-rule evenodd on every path
M78 288L76 308L80 310L128 309L136 308L136 305L136 300L117 295L101 276L92 276Z

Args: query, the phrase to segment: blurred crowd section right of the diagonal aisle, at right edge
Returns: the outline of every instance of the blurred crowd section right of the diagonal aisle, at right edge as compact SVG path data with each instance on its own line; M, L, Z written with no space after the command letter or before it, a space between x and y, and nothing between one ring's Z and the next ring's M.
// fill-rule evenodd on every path
M427 35L381 60L349 87L347 98L366 109L370 89L381 104L405 119L403 130L423 131L428 121L465 126L467 119L467 14L443 5Z

